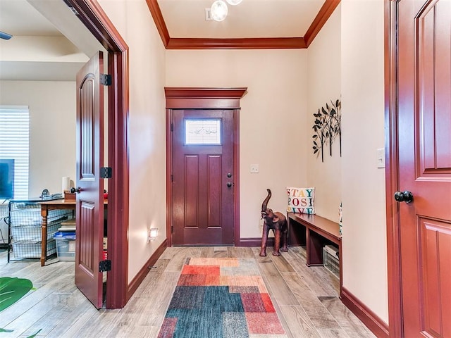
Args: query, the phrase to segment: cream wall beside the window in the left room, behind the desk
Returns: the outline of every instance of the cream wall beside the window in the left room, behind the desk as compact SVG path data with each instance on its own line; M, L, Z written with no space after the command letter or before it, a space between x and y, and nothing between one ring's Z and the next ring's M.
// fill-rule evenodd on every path
M0 81L0 105L30 110L30 198L75 177L75 81Z

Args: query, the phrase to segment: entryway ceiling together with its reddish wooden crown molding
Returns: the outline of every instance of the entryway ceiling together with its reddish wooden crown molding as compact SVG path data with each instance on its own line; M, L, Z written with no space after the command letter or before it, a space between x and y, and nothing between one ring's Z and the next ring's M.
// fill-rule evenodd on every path
M242 0L221 22L214 0L146 0L166 49L307 48L340 0Z

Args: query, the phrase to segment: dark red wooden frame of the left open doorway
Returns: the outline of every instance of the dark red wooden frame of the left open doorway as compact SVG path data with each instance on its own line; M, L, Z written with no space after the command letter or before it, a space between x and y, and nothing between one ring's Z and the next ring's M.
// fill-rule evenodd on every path
M113 269L107 275L106 308L123 308L128 293L128 45L96 0L63 0L78 11L87 30L108 51L108 158L113 170L108 198L108 258Z

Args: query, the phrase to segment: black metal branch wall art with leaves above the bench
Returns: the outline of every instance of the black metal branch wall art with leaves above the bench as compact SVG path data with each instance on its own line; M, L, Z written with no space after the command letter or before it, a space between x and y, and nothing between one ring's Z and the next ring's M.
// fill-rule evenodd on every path
M329 146L329 155L332 156L332 143L338 136L340 142L341 157L341 101L330 101L326 108L321 107L318 113L313 114L315 123L312 127L313 135L313 154L319 155L321 151L321 161L324 162L324 147Z

